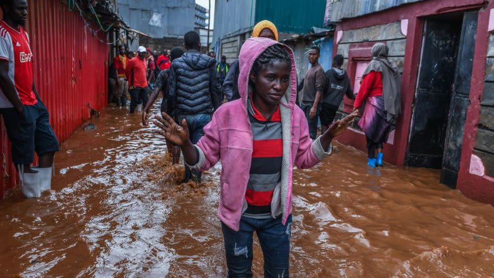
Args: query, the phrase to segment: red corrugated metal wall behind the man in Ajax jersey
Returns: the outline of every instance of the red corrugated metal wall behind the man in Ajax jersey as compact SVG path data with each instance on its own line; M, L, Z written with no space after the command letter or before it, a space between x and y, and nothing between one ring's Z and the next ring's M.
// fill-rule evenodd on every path
M106 40L106 34L99 31L94 35L89 28L98 28L87 26L78 12L69 12L59 0L28 0L28 4L26 29L33 52L34 82L62 142L90 117L88 104L95 109L106 105L109 47L100 42ZM2 197L15 185L16 175L3 124L0 134Z

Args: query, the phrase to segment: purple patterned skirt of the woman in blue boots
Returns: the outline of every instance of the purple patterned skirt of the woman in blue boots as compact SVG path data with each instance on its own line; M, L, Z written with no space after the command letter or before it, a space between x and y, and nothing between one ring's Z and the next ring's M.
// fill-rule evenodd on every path
M395 129L395 126L386 121L383 97L369 97L367 99L358 126L370 141L374 143L388 141L389 133Z

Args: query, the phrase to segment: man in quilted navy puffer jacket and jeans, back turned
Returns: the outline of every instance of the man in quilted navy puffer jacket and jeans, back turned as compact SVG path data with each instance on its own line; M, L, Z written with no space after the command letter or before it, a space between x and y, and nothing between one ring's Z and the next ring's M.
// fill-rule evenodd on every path
M187 50L175 59L170 68L171 109L179 123L186 120L190 140L197 143L204 135L204 128L211 121L213 111L221 104L221 86L216 77L216 60L200 54L200 37L195 31L184 35ZM191 171L185 165L185 182L200 182L201 173Z

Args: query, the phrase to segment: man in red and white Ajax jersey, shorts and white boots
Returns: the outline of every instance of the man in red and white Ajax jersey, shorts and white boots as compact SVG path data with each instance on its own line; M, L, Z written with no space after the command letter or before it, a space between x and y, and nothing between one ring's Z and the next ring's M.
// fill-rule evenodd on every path
M52 165L58 140L50 126L48 110L34 87L29 36L23 27L26 0L0 2L0 112L12 143L21 190L26 197L39 197L51 188ZM31 168L34 151L39 165Z

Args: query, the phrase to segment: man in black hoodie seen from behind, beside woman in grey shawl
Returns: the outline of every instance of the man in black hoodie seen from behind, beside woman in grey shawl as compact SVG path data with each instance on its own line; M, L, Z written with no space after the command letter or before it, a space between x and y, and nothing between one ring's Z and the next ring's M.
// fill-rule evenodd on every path
M343 100L343 95L347 95L350 99L355 99L350 86L350 78L345 70L341 68L342 65L343 56L338 54L333 58L333 68L325 73L327 87L324 91L322 110L319 114L322 134L324 134L335 120L336 112Z

